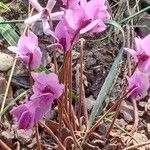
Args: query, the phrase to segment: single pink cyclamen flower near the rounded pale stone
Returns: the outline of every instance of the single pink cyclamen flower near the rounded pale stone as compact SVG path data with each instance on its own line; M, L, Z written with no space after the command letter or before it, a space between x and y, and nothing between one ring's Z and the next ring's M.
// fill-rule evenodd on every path
M28 64L30 69L35 69L41 64L42 53L38 47L38 38L33 32L28 36L22 34L17 47L10 46L8 49L18 54L17 59Z

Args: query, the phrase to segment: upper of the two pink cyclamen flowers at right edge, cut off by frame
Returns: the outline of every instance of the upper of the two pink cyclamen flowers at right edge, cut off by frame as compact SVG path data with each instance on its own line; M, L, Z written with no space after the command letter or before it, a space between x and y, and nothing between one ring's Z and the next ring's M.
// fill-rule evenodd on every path
M150 34L145 38L135 38L136 50L126 48L138 64L138 69L142 72L150 72Z

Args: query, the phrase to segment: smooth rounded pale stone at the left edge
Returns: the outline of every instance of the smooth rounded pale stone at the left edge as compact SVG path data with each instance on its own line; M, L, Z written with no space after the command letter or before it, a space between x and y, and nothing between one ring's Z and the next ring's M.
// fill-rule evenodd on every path
M0 53L0 71L7 71L12 65L13 57L5 53Z

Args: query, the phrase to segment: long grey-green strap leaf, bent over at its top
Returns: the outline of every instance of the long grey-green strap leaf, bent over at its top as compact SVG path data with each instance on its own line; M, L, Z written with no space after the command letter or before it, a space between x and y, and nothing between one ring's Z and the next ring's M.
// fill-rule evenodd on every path
M95 121L98 110L100 110L100 108L102 107L102 104L105 101L105 98L108 95L108 93L109 93L109 91L113 85L113 82L114 82L115 77L116 77L118 70L119 70L120 62L121 62L122 57L123 57L123 51L124 51L123 48L124 48L124 43L125 43L124 30L116 21L113 21L113 20L106 20L105 24L113 25L115 28L117 28L121 31L122 36L123 36L123 44L122 44L121 49L119 50L117 57L115 58L115 60L112 64L112 67L111 67L111 69L110 69L110 71L109 71L109 73L105 79L105 82L104 82L104 84L103 84L103 86L102 86L102 88L98 94L98 97L95 101L95 104L93 106L92 112L91 112L89 120L88 120L87 129L86 129L82 143L84 143L84 141L86 140L88 130L91 128L93 122Z

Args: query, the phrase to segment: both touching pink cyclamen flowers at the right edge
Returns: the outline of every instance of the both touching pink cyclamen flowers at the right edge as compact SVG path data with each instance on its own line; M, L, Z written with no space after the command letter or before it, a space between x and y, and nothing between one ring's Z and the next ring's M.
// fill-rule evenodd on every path
M137 63L137 69L131 77L127 77L129 96L133 100L140 100L147 95L150 88L150 34L145 38L135 38L136 50L126 49L134 61ZM132 89L132 90L131 90Z

